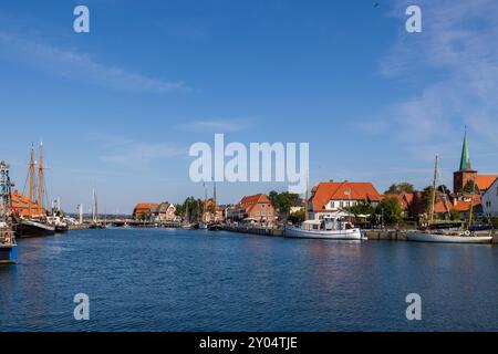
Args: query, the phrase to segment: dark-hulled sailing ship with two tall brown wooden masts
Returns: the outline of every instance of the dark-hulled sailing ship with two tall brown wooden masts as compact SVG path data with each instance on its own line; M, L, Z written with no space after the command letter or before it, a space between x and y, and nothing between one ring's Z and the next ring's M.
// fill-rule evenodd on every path
M31 157L29 164L29 197L28 214L15 215L14 226L18 237L38 237L55 233L55 227L46 220L46 214L43 208L44 178L43 178L43 144L40 143L40 156L38 167L37 200L34 200L34 147L31 144ZM15 211L15 210L14 210Z

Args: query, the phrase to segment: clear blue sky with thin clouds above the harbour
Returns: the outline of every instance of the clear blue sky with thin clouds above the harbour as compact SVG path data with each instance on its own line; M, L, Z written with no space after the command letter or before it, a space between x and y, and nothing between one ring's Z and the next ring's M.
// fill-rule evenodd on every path
M405 31L408 4L422 33ZM70 211L94 187L108 212L201 197L188 148L215 133L309 142L311 184L424 187L437 153L450 185L465 125L473 167L498 173L497 42L494 0L2 1L0 158L22 190L43 140L48 192Z

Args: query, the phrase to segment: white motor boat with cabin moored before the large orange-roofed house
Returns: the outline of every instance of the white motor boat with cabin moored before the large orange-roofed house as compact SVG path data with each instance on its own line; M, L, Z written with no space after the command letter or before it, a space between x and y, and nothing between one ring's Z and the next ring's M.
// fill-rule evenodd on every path
M286 226L283 236L288 238L364 240L359 228L351 222L325 218L323 221L307 220L301 227Z

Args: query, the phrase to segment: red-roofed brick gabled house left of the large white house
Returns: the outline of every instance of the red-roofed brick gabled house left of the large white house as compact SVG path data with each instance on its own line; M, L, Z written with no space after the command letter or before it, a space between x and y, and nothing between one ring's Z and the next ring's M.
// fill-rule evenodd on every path
M274 209L267 195L258 194L243 197L238 205L227 210L229 221L253 221L274 223Z

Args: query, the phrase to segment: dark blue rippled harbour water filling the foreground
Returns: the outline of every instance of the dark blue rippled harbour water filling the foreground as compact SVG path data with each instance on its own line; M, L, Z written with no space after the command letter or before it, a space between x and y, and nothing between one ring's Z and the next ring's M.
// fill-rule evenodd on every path
M434 330L498 331L497 247L82 230L20 240L0 268L0 331Z

